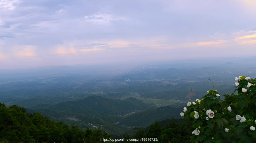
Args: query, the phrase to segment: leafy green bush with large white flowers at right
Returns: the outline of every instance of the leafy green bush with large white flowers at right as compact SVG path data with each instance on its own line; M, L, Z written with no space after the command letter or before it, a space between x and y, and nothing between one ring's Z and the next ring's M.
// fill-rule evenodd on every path
M231 103L220 100L216 90L209 90L202 99L184 107L181 116L195 128L191 142L256 142L256 79L239 76L235 81L238 94Z

